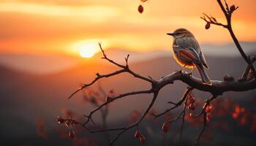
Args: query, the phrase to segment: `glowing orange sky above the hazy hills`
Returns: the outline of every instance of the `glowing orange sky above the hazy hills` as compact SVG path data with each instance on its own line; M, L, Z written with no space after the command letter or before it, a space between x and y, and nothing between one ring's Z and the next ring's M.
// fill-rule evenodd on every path
M256 1L227 0L239 9L233 29L240 41L255 41ZM0 53L78 54L78 44L102 42L105 48L148 51L170 48L165 35L188 28L200 43L231 42L228 32L204 29L203 12L224 21L216 0L1 0Z

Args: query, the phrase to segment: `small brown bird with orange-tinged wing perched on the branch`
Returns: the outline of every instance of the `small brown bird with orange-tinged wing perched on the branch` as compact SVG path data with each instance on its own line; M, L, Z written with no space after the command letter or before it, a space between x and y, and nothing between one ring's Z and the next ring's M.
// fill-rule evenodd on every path
M208 69L206 58L194 35L185 28L178 28L167 35L173 36L173 56L182 69L184 67L194 69L195 67L203 84L211 85L211 80L204 69L204 67Z

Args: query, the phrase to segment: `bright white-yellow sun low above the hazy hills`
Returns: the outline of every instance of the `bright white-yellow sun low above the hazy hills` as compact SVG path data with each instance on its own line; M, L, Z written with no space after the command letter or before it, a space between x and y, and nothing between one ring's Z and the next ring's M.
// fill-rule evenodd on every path
M97 53L98 47L99 46L95 42L85 42L80 45L79 54L83 58L91 58Z

